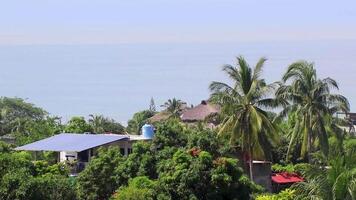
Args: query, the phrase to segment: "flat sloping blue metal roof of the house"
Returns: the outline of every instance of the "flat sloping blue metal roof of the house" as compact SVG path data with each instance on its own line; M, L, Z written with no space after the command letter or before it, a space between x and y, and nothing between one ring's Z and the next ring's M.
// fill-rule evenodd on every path
M37 142L17 147L26 151L74 151L80 152L119 140L128 139L126 135L116 134L75 134L61 133Z

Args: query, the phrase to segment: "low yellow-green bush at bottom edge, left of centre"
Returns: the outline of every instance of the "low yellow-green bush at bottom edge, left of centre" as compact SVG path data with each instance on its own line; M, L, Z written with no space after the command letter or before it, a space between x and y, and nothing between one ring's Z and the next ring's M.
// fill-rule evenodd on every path
M129 181L127 187L119 189L113 200L153 200L156 182L146 176L138 176Z

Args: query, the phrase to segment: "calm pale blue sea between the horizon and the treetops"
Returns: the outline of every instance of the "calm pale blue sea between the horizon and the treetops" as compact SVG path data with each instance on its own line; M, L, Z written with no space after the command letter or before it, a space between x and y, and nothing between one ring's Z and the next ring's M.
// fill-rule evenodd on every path
M221 66L238 55L251 65L267 57L268 81L293 61L313 61L356 111L356 41L0 46L0 96L26 98L64 120L104 114L126 123L151 97L158 110L168 98L208 98L209 83L226 81Z

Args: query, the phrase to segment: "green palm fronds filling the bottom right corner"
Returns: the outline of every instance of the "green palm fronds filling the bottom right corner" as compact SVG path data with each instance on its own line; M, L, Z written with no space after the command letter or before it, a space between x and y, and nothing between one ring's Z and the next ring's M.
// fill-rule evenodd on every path
M330 166L310 165L302 172L305 182L297 183L296 199L353 200L356 199L355 151L334 157Z

